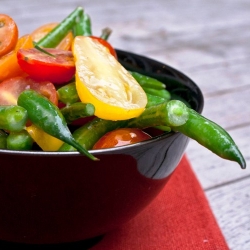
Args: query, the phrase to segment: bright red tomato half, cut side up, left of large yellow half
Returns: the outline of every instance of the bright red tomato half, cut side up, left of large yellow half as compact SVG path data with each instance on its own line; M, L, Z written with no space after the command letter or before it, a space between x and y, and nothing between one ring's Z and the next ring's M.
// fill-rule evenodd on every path
M32 49L20 49L17 60L20 68L33 79L62 84L70 81L75 74L75 63L71 51L44 49L52 55Z

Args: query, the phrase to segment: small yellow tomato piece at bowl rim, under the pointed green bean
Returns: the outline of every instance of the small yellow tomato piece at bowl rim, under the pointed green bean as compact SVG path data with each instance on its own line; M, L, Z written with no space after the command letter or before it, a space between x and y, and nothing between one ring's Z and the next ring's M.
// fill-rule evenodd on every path
M47 134L34 124L28 126L26 130L43 151L57 151L63 144L63 141Z

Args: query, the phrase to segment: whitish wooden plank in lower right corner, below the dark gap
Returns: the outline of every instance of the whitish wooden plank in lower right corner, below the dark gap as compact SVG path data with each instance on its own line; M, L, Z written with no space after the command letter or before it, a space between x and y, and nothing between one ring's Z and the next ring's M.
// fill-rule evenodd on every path
M222 232L233 250L250 249L250 178L206 192Z

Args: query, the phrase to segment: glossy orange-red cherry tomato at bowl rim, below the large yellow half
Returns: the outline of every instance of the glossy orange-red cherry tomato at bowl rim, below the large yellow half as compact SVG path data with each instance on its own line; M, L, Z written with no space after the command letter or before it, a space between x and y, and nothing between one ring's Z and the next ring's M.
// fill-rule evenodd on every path
M112 148L150 139L151 136L138 128L120 128L106 133L93 149Z

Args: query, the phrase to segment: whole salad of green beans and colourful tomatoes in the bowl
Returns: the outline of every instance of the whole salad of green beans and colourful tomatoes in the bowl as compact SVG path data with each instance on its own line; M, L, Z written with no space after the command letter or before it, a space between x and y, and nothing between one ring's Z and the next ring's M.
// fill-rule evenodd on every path
M150 139L145 129L153 127L246 167L227 131L173 99L164 83L123 67L110 33L94 36L82 7L22 37L0 14L1 149L78 150L98 160L89 150Z

